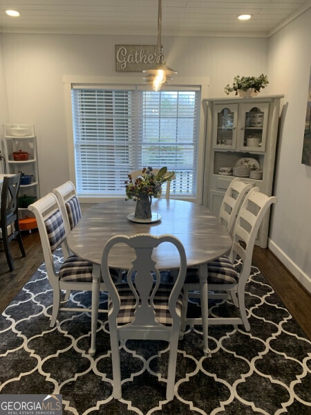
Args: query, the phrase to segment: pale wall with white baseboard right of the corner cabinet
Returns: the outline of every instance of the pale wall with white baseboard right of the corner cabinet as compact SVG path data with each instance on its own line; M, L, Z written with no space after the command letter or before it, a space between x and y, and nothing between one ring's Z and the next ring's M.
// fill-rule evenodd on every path
M285 94L270 249L311 292L311 166L301 164L311 68L311 9L270 38L272 93Z

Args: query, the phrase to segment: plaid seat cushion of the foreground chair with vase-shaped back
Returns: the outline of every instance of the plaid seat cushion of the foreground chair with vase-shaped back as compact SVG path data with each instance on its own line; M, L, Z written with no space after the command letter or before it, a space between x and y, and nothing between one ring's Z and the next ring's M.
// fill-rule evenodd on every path
M169 313L169 295L171 294L171 288L171 284L160 284L156 297L154 298L156 321L160 324L164 324L164 326L171 326L173 322L171 314ZM134 312L136 299L128 284L118 284L117 292L119 293L121 300L120 311L117 315L117 324L122 325L131 323L135 320ZM112 306L112 301L109 299L109 310ZM181 313L182 294L178 297L177 308Z

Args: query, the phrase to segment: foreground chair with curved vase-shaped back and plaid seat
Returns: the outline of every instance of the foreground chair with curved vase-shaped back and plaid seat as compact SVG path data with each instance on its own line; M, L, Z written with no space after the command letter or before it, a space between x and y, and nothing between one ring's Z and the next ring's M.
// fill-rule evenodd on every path
M126 282L115 284L109 272L109 251L124 243L135 252L134 259ZM160 284L160 271L151 257L153 249L161 243L171 243L179 252L180 269L173 284ZM182 284L186 269L185 249L172 235L117 235L106 243L102 254L102 275L110 296L108 318L114 398L122 398L120 343L122 346L126 340L164 340L170 344L167 399L173 399L180 322L185 318L182 315ZM96 313L95 308L93 312Z

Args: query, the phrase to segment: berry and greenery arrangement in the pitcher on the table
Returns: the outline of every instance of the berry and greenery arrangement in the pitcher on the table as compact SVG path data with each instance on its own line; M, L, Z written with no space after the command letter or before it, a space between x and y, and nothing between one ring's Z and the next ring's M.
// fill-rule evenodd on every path
M126 200L137 201L143 195L160 197L162 184L171 181L174 174L175 172L167 172L167 167L162 167L158 174L153 173L152 167L144 167L140 177L136 177L134 181L129 174L129 180L125 182Z

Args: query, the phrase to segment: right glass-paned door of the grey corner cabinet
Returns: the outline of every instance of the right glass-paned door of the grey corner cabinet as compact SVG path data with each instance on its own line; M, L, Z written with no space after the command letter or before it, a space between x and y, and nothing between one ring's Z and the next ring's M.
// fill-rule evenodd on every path
M269 103L241 104L238 146L245 151L265 151Z

